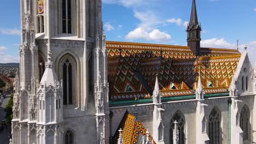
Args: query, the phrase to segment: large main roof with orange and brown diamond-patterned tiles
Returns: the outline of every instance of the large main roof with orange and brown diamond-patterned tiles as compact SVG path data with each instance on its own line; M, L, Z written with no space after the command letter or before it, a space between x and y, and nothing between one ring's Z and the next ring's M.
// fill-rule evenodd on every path
M150 98L159 77L163 97L193 95L201 74L205 93L225 93L241 53L202 48L197 57L187 46L107 41L110 100Z

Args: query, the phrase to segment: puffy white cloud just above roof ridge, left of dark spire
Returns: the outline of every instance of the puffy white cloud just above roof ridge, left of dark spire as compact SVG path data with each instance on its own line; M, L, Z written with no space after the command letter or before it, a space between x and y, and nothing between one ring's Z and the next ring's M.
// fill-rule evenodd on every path
M151 32L147 32L145 29L138 27L126 35L126 39L145 39L154 41L167 41L171 39L171 35L164 32L160 32L159 29L153 29Z

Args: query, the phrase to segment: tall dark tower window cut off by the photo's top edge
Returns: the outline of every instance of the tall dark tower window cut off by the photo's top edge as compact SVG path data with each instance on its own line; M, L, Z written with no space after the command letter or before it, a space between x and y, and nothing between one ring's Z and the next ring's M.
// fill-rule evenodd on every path
M71 0L62 0L62 33L72 33L71 27Z

